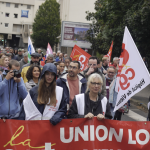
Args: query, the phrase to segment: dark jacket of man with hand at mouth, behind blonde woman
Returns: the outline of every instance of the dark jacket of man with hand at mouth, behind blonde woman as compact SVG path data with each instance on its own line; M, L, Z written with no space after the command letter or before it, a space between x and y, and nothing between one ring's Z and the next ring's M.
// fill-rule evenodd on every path
M87 68L86 70L84 70L82 72L82 74L85 76L85 78L88 80L88 75L86 75L86 73L88 72L89 68ZM102 85L102 92L101 94L106 96L106 79L105 79L105 76L102 74L101 70L100 69L97 69L97 71L93 72L93 73L98 73L101 77L102 77L102 80L103 80L103 85ZM92 73L92 74L93 74Z

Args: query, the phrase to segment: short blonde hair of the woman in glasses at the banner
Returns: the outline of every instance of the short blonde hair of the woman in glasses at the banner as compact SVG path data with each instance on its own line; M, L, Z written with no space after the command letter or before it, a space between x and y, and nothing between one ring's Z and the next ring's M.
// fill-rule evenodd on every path
M98 80L100 81L100 83L103 85L102 77L101 77L98 73L93 73L93 74L91 74L91 75L88 77L86 92L89 91L89 86L90 86L91 82L93 82L93 80L94 80L95 78L98 78Z

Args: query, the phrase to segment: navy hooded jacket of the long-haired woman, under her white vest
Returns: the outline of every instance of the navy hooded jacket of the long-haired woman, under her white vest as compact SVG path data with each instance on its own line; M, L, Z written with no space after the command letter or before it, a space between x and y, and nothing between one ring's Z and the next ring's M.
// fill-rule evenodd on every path
M57 73L57 68L55 65L53 65L52 63L48 63L46 64L44 67L43 67L43 70L42 70L42 74L41 74L41 77L44 75L44 73L46 71L50 71L50 72L53 72L53 73ZM37 107L37 109L40 111L41 114L43 114L44 112L44 109L45 109L45 105L44 104L38 104L37 103L37 97L38 97L38 87L39 85L33 87L29 93L30 93L30 96L35 104L35 106ZM56 91L57 92L57 91ZM68 98L66 97L65 93L63 92L63 95L62 95L62 100L61 100L61 103L60 103L60 106L59 106L59 109L58 111L55 112L55 114L53 115L53 117L50 119L50 122L53 124L53 125L56 125L57 123L59 123L62 119L65 118L66 116L66 112L67 112L67 100ZM24 107L22 106L21 107L21 112L20 112L20 115L19 115L19 120L25 120L25 111L24 111Z

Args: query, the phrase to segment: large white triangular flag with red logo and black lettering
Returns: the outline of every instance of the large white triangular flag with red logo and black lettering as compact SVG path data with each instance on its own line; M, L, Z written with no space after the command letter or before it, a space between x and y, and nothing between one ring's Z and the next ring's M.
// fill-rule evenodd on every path
M149 72L127 27L125 27L122 49L116 82L118 95L114 111L150 84Z

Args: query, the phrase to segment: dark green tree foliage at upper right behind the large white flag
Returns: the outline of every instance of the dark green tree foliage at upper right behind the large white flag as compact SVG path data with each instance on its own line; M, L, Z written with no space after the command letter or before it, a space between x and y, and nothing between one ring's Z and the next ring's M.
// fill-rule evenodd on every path
M113 56L120 56L125 26L128 27L140 53L150 56L150 1L97 0L96 12L86 12L92 20L88 39L92 49L107 54L114 41ZM95 36L91 36L94 32Z

